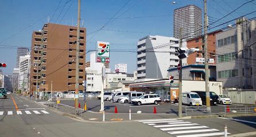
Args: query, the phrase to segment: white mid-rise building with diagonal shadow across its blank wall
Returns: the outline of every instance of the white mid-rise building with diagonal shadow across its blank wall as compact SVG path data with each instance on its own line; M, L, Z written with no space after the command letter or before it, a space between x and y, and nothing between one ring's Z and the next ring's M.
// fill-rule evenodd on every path
M186 47L183 42L183 47ZM137 78L167 78L167 69L179 64L179 39L163 36L147 36L137 43ZM183 59L187 63L187 59Z

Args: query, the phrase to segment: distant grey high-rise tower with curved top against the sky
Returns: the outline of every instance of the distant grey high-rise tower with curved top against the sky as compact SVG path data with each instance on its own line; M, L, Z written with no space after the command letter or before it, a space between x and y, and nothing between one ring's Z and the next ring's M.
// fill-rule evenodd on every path
M183 39L191 39L201 35L202 11L195 5L174 9L173 35L180 38L180 27L183 28Z

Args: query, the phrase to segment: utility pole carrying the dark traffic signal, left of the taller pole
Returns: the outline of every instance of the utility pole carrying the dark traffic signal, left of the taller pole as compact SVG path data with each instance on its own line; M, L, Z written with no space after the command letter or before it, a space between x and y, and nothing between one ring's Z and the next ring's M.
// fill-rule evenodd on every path
M180 27L180 48L182 47L182 32L183 28ZM179 117L182 117L182 59L180 59L180 72L179 72Z

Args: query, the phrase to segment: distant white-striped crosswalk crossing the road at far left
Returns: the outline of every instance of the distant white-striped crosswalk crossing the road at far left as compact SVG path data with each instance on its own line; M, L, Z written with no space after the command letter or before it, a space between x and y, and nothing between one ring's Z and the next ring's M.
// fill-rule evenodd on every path
M26 115L30 115L30 114L49 114L49 112L45 111L45 110L17 110L17 111L0 111L0 116L1 115L22 115L22 114L26 114Z

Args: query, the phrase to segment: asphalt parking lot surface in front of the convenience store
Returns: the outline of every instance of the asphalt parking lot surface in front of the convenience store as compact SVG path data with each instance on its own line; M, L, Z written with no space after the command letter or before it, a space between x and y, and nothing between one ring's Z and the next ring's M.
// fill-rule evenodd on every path
M81 108L84 107L83 99L79 99L79 103ZM93 112L99 112L100 110L100 100L99 99L86 99L87 103L87 110L93 111ZM74 106L75 101L72 100L61 100L61 104L65 104L68 106ZM156 107L157 114L178 114L179 110L179 104L174 103L163 103L160 104L143 104L141 106L135 106L130 103L116 103L116 102L110 102L110 101L104 101L104 110L105 112L115 112L115 107L117 107L118 113L128 113L129 109L131 109L132 113L137 113L138 111L141 111L142 113L146 114L153 114L154 113L154 107ZM197 115L197 114L207 114L205 111L205 106L193 106L189 107L186 105L183 105L183 113L187 115ZM230 104L223 105L223 104L217 104L216 106L211 106L211 114L225 114L227 111L229 113L236 112L236 113L245 113L245 112L254 112L254 108L256 106L250 105L245 106L243 104ZM209 113L209 112L208 112Z

